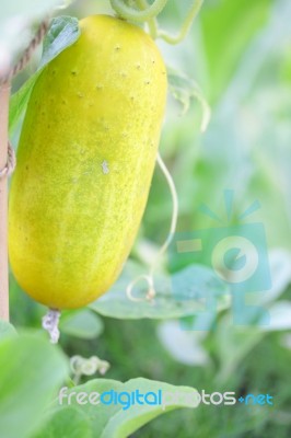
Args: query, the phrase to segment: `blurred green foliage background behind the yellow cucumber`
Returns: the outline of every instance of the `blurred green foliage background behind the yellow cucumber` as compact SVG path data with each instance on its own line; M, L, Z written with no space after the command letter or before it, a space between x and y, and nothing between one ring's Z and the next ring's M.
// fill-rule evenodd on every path
M159 19L161 26L177 30L189 4L171 0ZM66 14L82 18L109 11L107 1L79 0ZM82 322L79 331L70 334L67 330L61 338L70 356L96 354L108 360L112 368L106 377L112 379L142 376L198 391L269 393L273 406L179 410L155 419L133 437L291 436L290 22L289 0L206 0L185 42L178 46L159 43L167 65L199 83L212 111L209 127L201 134L199 104L194 101L181 116L181 105L168 97L161 153L178 192L178 231L218 227L200 211L202 204L225 224L225 189L234 191L229 224L241 223L238 216L259 201L260 209L245 222L259 222L266 231L272 288L253 298L269 308L270 326L235 327L229 322L230 311L221 312L216 326L207 332L183 331L177 321L96 316L94 338L80 335ZM144 264L151 260L166 238L171 214L168 188L156 170L132 258ZM205 263L202 256L199 262ZM12 279L12 323L36 327L43 313Z

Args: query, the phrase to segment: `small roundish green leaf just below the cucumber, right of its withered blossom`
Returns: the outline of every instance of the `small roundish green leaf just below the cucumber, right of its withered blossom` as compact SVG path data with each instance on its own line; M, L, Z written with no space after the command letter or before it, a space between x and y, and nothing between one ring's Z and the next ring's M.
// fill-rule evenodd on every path
M94 339L103 332L103 322L89 309L83 309L63 314L60 331L82 339Z

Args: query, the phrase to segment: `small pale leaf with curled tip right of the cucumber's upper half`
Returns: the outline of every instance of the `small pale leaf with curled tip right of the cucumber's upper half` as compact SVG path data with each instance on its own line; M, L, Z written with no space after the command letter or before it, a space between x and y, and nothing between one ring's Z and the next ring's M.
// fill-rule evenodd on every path
M189 110L193 99L199 102L202 110L201 130L205 131L210 120L211 111L198 84L181 71L172 68L167 68L167 80L170 92L183 105L183 115Z

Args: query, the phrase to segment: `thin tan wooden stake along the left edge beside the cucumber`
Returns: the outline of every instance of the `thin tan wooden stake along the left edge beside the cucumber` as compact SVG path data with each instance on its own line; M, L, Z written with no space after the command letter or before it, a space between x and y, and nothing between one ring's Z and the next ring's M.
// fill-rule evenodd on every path
M8 115L10 85L0 87L0 170L8 160ZM8 183L0 178L0 319L9 321L8 276Z

